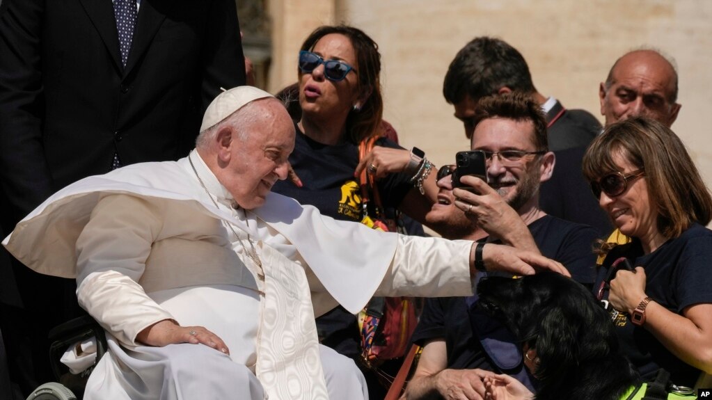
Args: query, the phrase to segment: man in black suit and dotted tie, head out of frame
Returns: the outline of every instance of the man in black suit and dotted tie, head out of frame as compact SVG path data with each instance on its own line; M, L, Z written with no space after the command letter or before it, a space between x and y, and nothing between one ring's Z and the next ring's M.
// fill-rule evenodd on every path
M219 88L245 82L234 0L3 3L0 228L6 233L73 181L184 157ZM33 322L18 326L4 307L2 332L9 352L23 331L31 332L38 352L31 379L42 381L49 378L47 330L75 314L76 300L57 278L16 267L24 313Z

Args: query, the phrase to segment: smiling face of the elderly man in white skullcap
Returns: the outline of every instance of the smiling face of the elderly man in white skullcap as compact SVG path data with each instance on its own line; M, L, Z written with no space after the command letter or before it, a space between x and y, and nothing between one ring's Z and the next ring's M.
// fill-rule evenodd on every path
M253 118L232 132L229 162L218 177L244 209L262 206L278 179L286 179L294 124L276 99L257 100Z

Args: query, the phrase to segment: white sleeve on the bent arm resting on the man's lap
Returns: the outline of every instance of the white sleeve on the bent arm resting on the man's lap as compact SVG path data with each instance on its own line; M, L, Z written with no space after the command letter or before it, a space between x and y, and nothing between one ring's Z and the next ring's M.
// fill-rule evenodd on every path
M77 240L79 304L128 346L136 344L136 335L146 327L172 319L138 283L162 228L160 215L150 200L106 196Z

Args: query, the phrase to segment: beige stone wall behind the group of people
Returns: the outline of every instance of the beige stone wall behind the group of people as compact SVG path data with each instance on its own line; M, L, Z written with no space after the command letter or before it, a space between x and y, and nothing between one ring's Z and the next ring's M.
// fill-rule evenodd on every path
M273 60L268 90L296 80L296 55L316 26L345 22L379 43L385 118L404 147L437 165L468 142L442 96L447 67L476 36L498 36L527 60L536 88L602 121L599 84L614 61L641 46L676 60L683 105L673 130L712 186L712 1L698 0L269 0Z

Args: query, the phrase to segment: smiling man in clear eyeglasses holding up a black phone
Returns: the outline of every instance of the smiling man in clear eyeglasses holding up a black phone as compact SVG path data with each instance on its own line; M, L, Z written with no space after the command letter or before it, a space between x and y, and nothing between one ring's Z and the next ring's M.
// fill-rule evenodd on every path
M540 107L523 93L483 98L473 124L471 149L484 152L487 181L462 177L464 189L453 189L453 169L442 167L439 202L426 221L441 226L453 221L454 229L445 230L446 237L452 239L503 241L526 247L530 246L527 240L531 241L544 256L565 265L572 278L591 286L595 279L591 247L597 238L595 229L549 216L538 204L540 182L550 177L555 164ZM406 398L482 399L482 378L492 371L510 374L533 388L533 377L523 367L518 344L513 338L493 344L493 337L498 336L482 333L493 329L497 335L503 332L498 322L477 312L476 296L426 300L413 335L414 342L424 349Z

